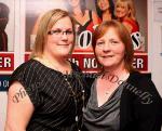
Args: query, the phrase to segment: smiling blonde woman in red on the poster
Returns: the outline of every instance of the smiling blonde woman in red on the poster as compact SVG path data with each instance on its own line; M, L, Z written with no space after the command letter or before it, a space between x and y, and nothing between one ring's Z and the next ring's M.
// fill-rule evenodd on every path
M117 0L116 17L127 28L132 36L134 50L141 49L139 24L136 19L135 5L133 0Z

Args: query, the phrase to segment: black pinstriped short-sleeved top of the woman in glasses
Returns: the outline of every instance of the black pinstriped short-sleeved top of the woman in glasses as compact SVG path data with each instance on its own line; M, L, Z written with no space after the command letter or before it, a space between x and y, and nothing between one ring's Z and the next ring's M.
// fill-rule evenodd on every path
M84 81L79 76L78 66L71 63L71 67L70 75L63 75L30 60L13 73L10 84L13 81L21 82L35 106L27 131L77 131L75 119L76 113L80 119L82 116ZM77 105L65 77L77 94Z

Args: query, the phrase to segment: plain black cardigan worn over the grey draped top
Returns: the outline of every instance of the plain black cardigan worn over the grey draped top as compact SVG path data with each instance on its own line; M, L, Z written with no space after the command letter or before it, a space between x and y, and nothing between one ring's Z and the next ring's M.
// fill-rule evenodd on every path
M87 80L91 84L94 78ZM90 94L91 89L87 91ZM120 131L161 131L161 126L162 99L153 82L140 73L131 73L121 95Z

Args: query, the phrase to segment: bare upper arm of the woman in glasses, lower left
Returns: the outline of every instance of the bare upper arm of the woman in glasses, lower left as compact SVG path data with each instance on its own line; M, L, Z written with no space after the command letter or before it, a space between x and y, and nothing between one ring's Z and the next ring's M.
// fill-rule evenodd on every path
M25 131L35 110L25 88L13 82L8 92L5 131Z

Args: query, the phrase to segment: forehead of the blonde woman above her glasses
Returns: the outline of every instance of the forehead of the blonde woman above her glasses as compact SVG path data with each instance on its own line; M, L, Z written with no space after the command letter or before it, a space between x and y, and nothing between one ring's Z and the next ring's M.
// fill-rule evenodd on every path
M69 16L58 19L52 28L72 28L72 22Z

